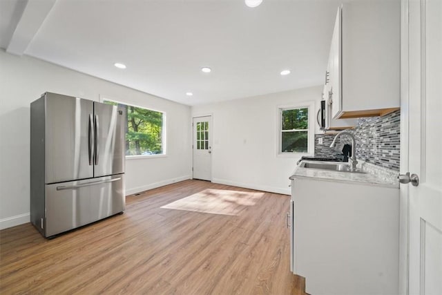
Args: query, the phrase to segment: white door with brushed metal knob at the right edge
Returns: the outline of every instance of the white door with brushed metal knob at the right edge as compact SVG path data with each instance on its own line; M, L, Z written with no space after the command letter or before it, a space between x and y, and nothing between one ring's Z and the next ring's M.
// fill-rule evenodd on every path
M408 291L442 294L442 1L404 1L408 171L419 176L418 186L401 184L408 194Z

